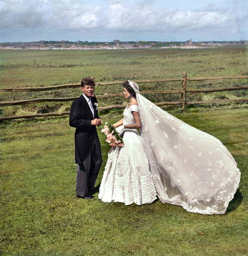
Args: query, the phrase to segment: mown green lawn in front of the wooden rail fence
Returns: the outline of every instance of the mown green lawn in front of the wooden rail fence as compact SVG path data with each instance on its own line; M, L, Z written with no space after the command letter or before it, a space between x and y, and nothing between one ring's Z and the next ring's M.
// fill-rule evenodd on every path
M236 106L236 105L235 105ZM4 121L1 129L2 255L248 255L247 106L167 110L229 149L242 173L224 215L162 204L124 206L75 195L74 128L68 117ZM122 110L101 113L115 122ZM100 128L98 128L98 132ZM109 146L101 140L103 164ZM204 232L199 235L198 232Z

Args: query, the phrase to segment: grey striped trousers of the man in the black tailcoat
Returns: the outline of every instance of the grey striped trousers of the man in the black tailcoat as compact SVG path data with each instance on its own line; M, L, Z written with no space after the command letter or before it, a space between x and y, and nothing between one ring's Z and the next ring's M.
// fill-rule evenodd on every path
M77 195L87 196L89 191L94 188L101 162L101 146L97 134L94 134L94 140L88 156L83 161L83 164L78 165L76 184Z

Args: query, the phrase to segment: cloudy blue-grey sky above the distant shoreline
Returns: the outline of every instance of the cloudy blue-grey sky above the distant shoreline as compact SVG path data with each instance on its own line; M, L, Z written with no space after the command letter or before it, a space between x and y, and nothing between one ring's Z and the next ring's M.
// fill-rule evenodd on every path
M0 42L248 40L248 0L0 0Z

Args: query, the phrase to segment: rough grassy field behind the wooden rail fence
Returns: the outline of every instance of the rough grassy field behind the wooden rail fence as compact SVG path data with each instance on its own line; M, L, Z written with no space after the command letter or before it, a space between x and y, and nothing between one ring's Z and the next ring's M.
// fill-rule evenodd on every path
M222 52L222 55L219 52ZM230 55L230 51L233 52ZM242 54L240 54L242 51ZM201 52L201 56L199 56ZM211 52L211 55L210 55ZM177 58L179 54L179 58ZM190 54L191 57L188 57ZM167 59L168 56L168 59ZM0 88L40 87L79 83L85 76L96 82L247 75L247 46L224 46L203 49L132 49L132 50L3 50L0 51ZM247 85L247 79L192 81L187 89ZM139 84L140 90L180 89L181 82ZM98 86L96 94L121 92L121 85ZM76 97L79 88L44 92L4 92L0 101L35 98ZM222 93L188 93L187 101L204 97L226 97ZM210 95L210 96L209 96ZM227 98L247 98L247 90L232 91ZM153 102L178 101L178 94L147 95ZM101 98L99 106L120 104L122 97ZM70 109L71 102L43 102L0 108L0 117Z

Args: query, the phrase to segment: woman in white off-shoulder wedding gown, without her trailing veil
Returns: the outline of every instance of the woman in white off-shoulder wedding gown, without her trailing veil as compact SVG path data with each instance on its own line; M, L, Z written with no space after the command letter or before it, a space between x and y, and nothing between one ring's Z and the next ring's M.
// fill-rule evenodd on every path
M136 94L128 81L123 83L129 103L124 118L113 124L123 134L124 147L112 147L101 181L99 198L104 202L149 204L156 200L156 190L145 154Z

